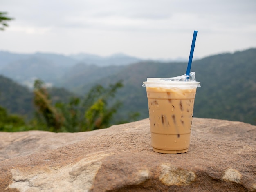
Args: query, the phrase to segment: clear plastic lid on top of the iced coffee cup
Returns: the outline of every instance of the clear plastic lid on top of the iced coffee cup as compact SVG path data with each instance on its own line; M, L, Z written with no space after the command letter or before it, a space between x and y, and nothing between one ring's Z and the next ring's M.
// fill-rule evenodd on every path
M195 80L195 72L191 72L189 75L181 75L177 77L170 78L147 78L147 81L143 82L143 87L158 87L159 84L164 87L173 87L173 86L195 86L200 87L200 82Z

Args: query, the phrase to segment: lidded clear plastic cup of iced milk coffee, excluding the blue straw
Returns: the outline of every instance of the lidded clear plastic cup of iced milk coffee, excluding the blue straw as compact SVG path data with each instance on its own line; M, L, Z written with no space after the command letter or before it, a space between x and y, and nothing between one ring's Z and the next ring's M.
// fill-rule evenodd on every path
M176 154L189 150L195 93L195 73L175 78L148 78L143 82L153 150Z

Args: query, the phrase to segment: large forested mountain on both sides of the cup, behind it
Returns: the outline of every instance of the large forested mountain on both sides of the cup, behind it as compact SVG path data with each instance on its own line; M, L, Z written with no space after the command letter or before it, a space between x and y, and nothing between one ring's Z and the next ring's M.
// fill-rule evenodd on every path
M126 66L117 74L95 84L108 85L123 80L124 88L117 99L124 105L119 116L140 112L148 117L146 89L141 87L147 77L173 77L185 74L187 63L140 62ZM194 116L228 119L256 124L256 49L209 56L193 62L191 71L202 87L198 87ZM81 90L88 89L86 85Z

